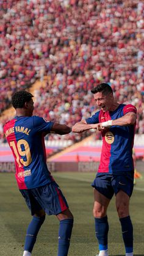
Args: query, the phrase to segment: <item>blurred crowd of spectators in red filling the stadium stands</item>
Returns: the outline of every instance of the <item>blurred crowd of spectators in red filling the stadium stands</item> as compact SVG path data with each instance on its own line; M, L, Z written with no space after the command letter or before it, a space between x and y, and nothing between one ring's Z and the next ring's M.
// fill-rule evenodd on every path
M34 114L71 126L97 111L90 89L110 82L120 103L137 107L144 133L143 1L5 0L0 15L0 114L13 92L40 79Z

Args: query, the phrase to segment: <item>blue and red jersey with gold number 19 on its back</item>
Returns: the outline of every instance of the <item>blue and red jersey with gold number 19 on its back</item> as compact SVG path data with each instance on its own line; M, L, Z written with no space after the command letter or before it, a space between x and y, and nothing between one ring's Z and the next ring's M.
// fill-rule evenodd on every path
M42 117L18 117L5 123L4 133L15 158L20 189L31 189L54 180L46 164L44 137L53 123Z

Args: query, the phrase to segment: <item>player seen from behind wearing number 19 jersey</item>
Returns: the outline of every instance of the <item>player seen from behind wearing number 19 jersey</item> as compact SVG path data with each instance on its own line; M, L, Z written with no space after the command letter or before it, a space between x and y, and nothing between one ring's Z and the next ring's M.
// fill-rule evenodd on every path
M45 214L59 219L58 256L67 256L73 229L73 214L46 165L44 137L48 133L68 134L67 125L32 116L33 95L24 90L12 96L14 119L5 123L4 133L15 158L16 181L33 216L27 229L23 256L30 256Z

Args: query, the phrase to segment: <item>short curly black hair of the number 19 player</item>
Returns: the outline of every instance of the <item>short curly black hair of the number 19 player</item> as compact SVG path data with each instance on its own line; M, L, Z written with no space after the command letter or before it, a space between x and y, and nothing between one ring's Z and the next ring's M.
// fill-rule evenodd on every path
M31 98L34 97L32 93L26 90L20 90L12 95L12 105L13 108L23 108L24 103L29 102Z

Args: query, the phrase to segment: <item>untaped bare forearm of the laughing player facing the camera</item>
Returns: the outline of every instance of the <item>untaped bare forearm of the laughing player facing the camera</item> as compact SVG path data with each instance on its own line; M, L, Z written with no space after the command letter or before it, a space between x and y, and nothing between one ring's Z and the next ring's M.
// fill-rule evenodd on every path
M83 131L87 131L90 129L99 130L100 126L100 123L88 124L84 119L82 119L81 122L77 122L75 123L75 125L72 126L72 131L73 133L83 133Z

